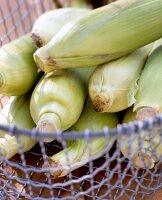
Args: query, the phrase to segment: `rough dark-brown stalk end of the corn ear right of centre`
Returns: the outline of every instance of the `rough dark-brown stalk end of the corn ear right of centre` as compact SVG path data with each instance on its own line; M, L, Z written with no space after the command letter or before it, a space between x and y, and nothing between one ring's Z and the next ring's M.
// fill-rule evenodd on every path
M92 103L96 112L107 112L110 107L109 99L103 95L95 96Z

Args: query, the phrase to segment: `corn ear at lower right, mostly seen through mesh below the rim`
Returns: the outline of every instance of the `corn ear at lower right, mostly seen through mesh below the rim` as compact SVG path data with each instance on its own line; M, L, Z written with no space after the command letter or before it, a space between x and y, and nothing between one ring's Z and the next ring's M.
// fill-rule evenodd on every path
M135 121L136 112L133 108L126 112L123 123ZM131 133L120 136L118 144L123 155L132 160L134 167L152 169L162 155L162 138L156 128L149 131L141 131L139 134Z

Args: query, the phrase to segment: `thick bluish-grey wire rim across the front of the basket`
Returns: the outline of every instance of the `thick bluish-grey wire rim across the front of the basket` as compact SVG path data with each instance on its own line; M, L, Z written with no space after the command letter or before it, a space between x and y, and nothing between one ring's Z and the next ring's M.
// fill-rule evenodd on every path
M143 121L132 121L129 123L118 124L116 128L104 127L101 131L90 131L86 129L84 131L61 131L58 130L54 134L49 132L39 131L36 128L31 130L18 128L16 125L2 125L0 124L0 130L5 131L11 136L26 135L33 139L40 140L44 138L52 139L83 139L83 138L99 138L99 137L109 137L109 136L119 136L119 135L132 135L139 134L141 131L150 131L153 128L162 127L162 114L156 117L149 118Z

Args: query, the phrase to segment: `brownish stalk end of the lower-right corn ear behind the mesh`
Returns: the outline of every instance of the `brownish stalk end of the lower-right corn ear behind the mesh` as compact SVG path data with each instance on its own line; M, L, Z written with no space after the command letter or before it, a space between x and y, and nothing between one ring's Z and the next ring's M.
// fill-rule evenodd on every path
M154 167L154 160L149 155L141 155L140 153L133 159L133 165L136 168L152 169Z

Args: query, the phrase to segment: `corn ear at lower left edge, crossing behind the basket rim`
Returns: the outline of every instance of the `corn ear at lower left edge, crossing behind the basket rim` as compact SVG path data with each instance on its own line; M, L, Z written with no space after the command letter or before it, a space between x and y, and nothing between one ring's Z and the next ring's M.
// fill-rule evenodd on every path
M35 124L30 116L29 110L30 98L28 95L11 97L1 112L1 116L5 117L5 123L1 121L3 125L14 124L18 128L32 129ZM19 146L23 152L31 149L35 144L31 137L25 135L18 136ZM19 153L19 146L15 136L10 136L7 133L0 138L0 152L3 157L10 159L16 153Z

